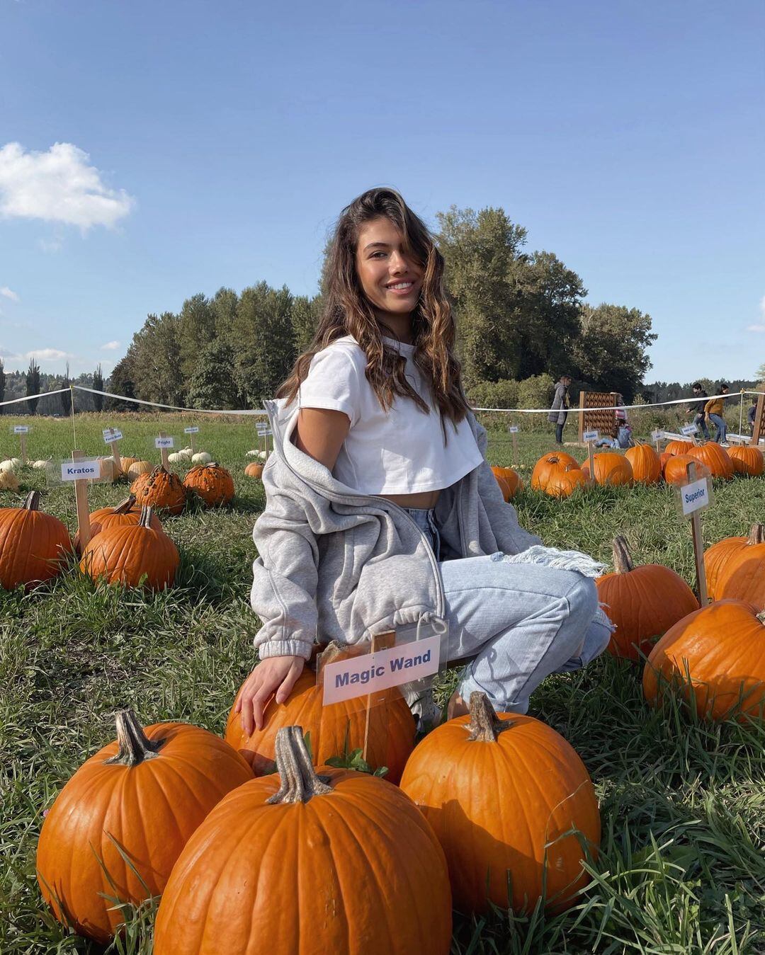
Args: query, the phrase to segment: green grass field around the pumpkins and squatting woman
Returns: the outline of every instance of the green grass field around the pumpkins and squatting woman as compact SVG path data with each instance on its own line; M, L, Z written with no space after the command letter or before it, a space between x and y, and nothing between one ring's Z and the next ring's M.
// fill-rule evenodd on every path
M101 429L117 424L124 455L154 460L159 429L182 436L189 423L83 414L76 440L89 455L106 454ZM32 457L71 453L70 420L32 424ZM5 434L2 456L15 454L16 439ZM114 738L114 711L129 705L145 723L180 719L223 732L253 666L250 535L265 504L260 481L244 477L244 453L257 446L253 422L202 422L197 444L231 470L237 497L230 510L192 509L165 521L181 550L172 590L96 587L70 572L29 594L0 594L2 955L99 950L46 910L34 852L43 811L83 759ZM493 432L491 462L510 464L511 447ZM550 447L549 435L522 435L523 477ZM74 532L71 485L44 488L45 473L32 470L21 480L22 491L43 489L44 508ZM707 545L765 518L765 478L715 482L714 495L702 517ZM124 484L95 485L91 509L124 496ZM2 492L0 506L21 498ZM668 488L594 488L564 501L526 490L516 503L521 523L549 544L608 561L611 539L623 533L636 561L667 563L692 584L690 529ZM765 727L703 725L677 707L651 711L639 675L605 654L534 694L532 713L563 733L595 783L601 856L588 890L563 915L457 916L455 953L765 952ZM152 918L152 903L131 913L110 951L148 955Z

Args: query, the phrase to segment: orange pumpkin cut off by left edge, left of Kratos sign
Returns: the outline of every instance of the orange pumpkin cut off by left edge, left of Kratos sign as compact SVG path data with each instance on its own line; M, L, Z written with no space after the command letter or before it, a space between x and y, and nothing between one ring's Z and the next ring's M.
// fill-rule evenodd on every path
M0 584L6 590L50 580L71 553L69 531L40 510L39 491L30 492L21 507L0 508Z

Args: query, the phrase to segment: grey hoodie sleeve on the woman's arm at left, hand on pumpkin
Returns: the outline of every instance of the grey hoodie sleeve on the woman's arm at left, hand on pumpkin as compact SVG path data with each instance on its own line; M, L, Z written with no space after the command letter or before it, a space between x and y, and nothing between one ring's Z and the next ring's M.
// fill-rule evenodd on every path
M316 641L319 550L305 511L288 492L280 491L272 470L264 468L266 510L252 532L259 557L252 565L250 604L263 622L255 647L262 660L308 660Z

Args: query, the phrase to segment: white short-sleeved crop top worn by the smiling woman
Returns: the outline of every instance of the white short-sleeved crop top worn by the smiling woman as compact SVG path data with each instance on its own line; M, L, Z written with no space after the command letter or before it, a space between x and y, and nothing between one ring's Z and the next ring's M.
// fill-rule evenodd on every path
M300 386L299 408L329 408L347 414L349 431L332 474L362 494L414 494L440 491L478 467L483 456L466 418L446 421L444 445L441 417L430 384L414 365L414 345L384 337L406 359L406 376L428 404L422 412L411 398L395 395L390 412L380 407L367 381L366 352L351 335L317 352Z

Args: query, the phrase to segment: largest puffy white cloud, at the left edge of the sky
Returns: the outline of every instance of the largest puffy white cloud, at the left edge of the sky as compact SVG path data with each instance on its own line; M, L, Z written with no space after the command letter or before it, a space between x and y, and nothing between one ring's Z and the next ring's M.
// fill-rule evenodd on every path
M56 142L45 153L9 142L0 149L0 216L47 222L112 227L134 200L124 189L110 189L90 157L71 142Z

